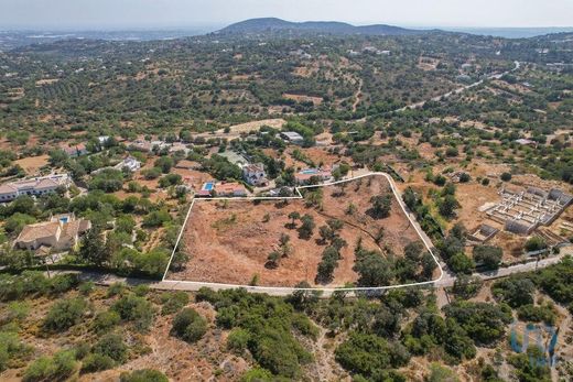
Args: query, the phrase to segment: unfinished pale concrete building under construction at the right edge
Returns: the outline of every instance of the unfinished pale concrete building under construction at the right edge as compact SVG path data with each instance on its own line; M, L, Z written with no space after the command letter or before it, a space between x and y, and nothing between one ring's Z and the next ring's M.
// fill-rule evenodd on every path
M501 201L486 210L487 216L505 226L509 232L530 234L540 226L551 225L573 197L560 189L545 192L530 187L521 192L502 188Z

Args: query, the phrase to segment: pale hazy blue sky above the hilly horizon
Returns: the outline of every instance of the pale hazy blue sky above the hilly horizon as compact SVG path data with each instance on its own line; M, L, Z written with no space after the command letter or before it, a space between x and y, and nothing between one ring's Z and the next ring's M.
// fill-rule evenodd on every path
M573 26L573 0L0 0L0 30L218 28L263 17L401 26Z

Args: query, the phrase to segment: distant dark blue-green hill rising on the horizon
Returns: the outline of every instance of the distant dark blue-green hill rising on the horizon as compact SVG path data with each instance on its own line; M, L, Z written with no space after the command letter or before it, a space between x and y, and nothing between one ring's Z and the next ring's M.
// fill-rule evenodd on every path
M361 35L404 35L428 33L430 31L411 30L393 25L375 24L356 26L337 21L291 22L275 18L250 19L231 24L215 33L218 34L260 34L273 32L288 33L324 33L324 34L361 34Z

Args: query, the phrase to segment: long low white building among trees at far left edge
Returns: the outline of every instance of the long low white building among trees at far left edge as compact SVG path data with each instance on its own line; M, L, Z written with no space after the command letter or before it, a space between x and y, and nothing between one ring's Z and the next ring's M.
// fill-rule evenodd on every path
M42 196L55 192L58 187L68 188L72 178L67 174L54 174L34 177L0 186L0 203L11 201L21 195Z

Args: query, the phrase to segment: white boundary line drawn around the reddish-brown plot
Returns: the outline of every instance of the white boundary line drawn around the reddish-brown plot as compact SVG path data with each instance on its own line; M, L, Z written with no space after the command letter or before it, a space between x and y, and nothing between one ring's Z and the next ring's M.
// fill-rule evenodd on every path
M392 189L392 193L393 193L396 199L398 200L398 204L402 208L402 212L404 212L406 217L408 218L408 220L410 221L410 223L414 228L415 232L418 233L418 236L420 237L420 239L424 243L426 250L432 255L432 259L435 261L435 263L437 265L437 269L440 270L440 276L437 279L431 280L431 281L424 281L424 282L420 282L420 283L409 283L409 284L398 284L398 285L387 285L387 286L360 286L360 287L334 287L334 288L333 287L299 288L299 287L289 287L289 286L253 286L253 285L237 285L237 284L224 284L224 283L208 283L208 282L186 281L186 280L165 280L165 277L167 275L167 272L169 272L169 270L171 268L171 262L173 261L173 257L175 255L175 252L176 252L176 250L179 248L179 244L181 242L181 238L183 237L183 232L185 231L185 227L187 226L187 221L188 221L188 218L191 216L191 210L192 210L193 206L195 205L196 200L234 200L234 201L240 201L240 200L289 200L289 199L302 199L303 196L302 196L300 189L335 186L337 184L347 183L347 182L360 179L360 178L368 177L368 176L383 176L383 177L386 177L386 179L390 184L390 188ZM337 182L324 183L324 184L320 184L320 185L307 185L307 186L294 187L294 190L299 194L299 196L289 196L289 197L264 197L264 196L262 196L262 197L259 197L259 196L251 196L251 197L210 197L210 198L201 198L201 199L199 198L194 198L193 201L191 203L191 206L190 206L188 210L187 210L187 215L185 216L185 220L183 222L183 226L181 228L180 234L177 237L177 241L175 242L175 247L173 248L173 251L171 253L171 258L169 260L167 268L165 269L165 272L164 272L163 277L162 277L162 283L170 283L170 284L173 284L173 286L179 285L179 284L184 284L184 285L197 286L197 287L202 287L202 286L215 287L215 288L218 288L218 290L246 288L247 291L251 291L251 292L268 292L268 293L270 292L270 293L286 295L286 294L290 294L290 293L292 293L294 291L315 291L315 292L323 292L323 293L328 293L328 294L333 293L333 292L336 292L336 291L339 291L339 292L387 291L387 290L396 290L396 288L401 288L401 287L434 285L435 283L442 281L442 279L444 276L444 271L442 269L442 265L440 265L440 261L437 260L436 255L432 251L432 248L433 248L432 242L425 236L425 233L422 231L422 229L418 226L418 222L412 219L410 214L408 214L408 211L406 209L406 204L402 200L402 197L401 197L400 193L398 192L398 188L396 187L396 184L394 184L392 177L390 175L388 175L387 173L374 172L374 173L368 173L368 174L364 174L364 175L359 175L359 176L356 176L356 177L352 177L352 178L343 179L343 181L337 181Z

